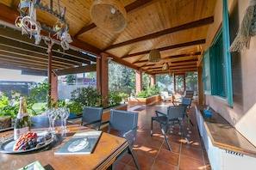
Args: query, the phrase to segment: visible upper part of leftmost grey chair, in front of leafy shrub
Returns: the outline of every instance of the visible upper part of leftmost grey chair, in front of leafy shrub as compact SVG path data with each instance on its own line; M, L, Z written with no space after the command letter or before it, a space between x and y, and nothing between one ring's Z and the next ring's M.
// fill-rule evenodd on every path
M91 125L91 127L96 126L100 129L102 115L103 115L102 107L84 106L81 125L84 125L84 126Z

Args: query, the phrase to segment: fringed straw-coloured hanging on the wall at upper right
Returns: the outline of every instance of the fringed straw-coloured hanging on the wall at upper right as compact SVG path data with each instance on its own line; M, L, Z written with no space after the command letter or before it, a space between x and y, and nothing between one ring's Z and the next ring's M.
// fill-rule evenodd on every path
M256 0L251 0L240 25L240 29L234 38L229 52L240 52L249 48L251 37L256 35Z

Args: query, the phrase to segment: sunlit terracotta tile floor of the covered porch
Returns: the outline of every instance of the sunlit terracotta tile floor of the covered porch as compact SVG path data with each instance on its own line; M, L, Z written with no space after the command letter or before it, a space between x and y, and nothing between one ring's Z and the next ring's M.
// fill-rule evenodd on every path
M172 152L168 150L165 139L157 122L153 123L153 137L150 136L151 117L155 116L155 110L165 112L166 106L172 106L172 102L159 101L153 106L143 106L143 110L139 112L139 130L137 139L134 144L134 153L139 162L141 170L172 170L172 169L191 169L191 170L209 170L211 169L207 153L203 147L202 138L199 136L197 129L197 121L195 118L194 103L190 109L190 119L194 126L190 125L191 134L189 137L190 144L187 144L184 137L178 135L179 128L175 126L173 133L168 133L168 140L172 148ZM138 107L138 106L137 106ZM184 121L184 129L186 130L188 121ZM187 131L186 131L187 132ZM188 134L188 133L187 133ZM124 155L114 165L115 169L134 170L136 169L131 155Z

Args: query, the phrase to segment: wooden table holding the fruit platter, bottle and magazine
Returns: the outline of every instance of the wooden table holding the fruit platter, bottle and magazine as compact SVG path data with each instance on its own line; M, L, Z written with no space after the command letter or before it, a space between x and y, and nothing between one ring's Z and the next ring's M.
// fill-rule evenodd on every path
M48 119L44 115L31 118L31 131L47 131ZM95 131L80 124L67 123L68 132L61 132L60 120L55 122L53 143L41 149L33 149L28 152L16 153L1 152L0 149L0 168L1 169L19 169L29 164L39 161L44 169L107 169L116 161L116 158L128 148L128 141L122 137L116 137L103 132L97 145L91 154L86 155L54 155L54 152L61 148L76 133L82 131ZM1 131L0 139L4 143L8 137L12 137L13 130ZM3 150L2 150L3 151Z

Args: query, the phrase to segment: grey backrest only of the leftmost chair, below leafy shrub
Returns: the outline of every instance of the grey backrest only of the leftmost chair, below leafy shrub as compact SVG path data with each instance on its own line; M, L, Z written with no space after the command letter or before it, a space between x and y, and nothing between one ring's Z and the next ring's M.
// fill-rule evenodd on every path
M102 107L84 106L81 124L84 122L90 123L95 121L102 121L102 115Z

